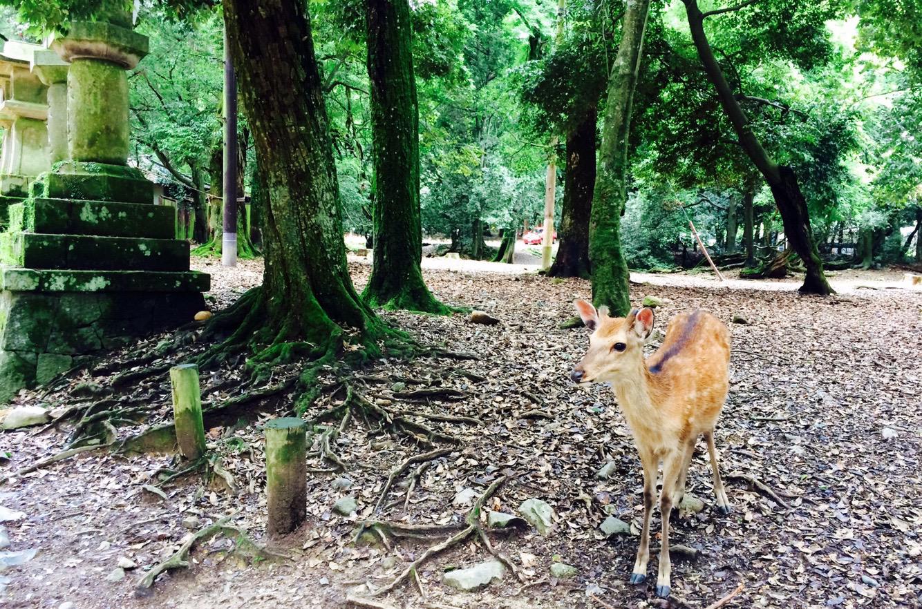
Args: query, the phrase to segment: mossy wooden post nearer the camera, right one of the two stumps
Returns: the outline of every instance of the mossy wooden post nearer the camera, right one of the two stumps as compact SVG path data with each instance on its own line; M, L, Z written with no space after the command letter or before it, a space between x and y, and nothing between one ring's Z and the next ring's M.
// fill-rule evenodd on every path
M266 423L266 533L291 533L307 512L307 424L294 417Z

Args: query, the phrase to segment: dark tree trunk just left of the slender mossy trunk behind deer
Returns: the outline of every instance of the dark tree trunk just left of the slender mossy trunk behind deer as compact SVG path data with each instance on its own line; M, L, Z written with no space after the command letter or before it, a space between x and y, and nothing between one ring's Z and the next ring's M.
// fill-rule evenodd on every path
M560 245L548 275L589 277L589 216L596 185L595 108L567 136L567 170L563 179Z

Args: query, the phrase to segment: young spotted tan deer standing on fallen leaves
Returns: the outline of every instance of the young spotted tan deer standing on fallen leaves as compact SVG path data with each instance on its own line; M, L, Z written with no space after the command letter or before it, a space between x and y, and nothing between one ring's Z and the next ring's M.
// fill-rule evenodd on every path
M706 311L683 312L669 322L663 345L644 360L653 310L635 309L626 318L611 318L604 307L596 310L585 300L575 305L593 333L570 378L576 383L612 384L644 467L644 530L631 583L646 579L656 470L663 463L659 496L663 540L656 594L665 598L669 595L669 513L684 497L685 474L699 436L704 436L711 454L717 509L724 514L730 511L714 448L714 424L727 398L730 333Z

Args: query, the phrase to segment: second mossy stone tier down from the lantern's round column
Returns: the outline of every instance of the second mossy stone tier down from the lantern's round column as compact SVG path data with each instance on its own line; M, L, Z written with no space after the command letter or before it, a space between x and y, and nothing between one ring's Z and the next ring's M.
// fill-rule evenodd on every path
M10 232L171 239L176 210L170 205L30 199L10 205Z

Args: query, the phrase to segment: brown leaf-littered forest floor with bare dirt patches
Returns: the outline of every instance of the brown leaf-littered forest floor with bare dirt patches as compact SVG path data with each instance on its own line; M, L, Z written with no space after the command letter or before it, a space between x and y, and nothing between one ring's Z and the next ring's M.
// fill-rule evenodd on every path
M352 258L350 268L361 287L370 266ZM429 260L425 276L438 298L485 310L501 322L477 325L463 313L386 312L388 321L421 343L473 352L478 358L384 359L358 372L352 382L377 404L418 413L408 416L458 444L432 439L426 445L406 434L372 429L356 416L333 445L345 473L330 471L331 463L316 447L309 453L309 466L317 471L308 480L307 522L271 544L288 558L247 559L229 552L229 539L216 537L195 546L191 568L161 576L152 594L141 598L134 594L137 580L171 556L190 529L233 514L234 525L266 542L259 424L285 414L290 399L257 404L249 413L254 425L230 421L208 426L209 442L231 474L232 489L206 484L197 475L162 484L154 474L171 457L156 453L89 451L14 476L0 486L0 520L15 519L3 523L11 542L7 551L37 553L24 565L0 572L0 604L74 609L346 606L348 594L367 595L383 587L428 545L447 536L357 547L353 533L360 521L463 524L471 496L506 475L486 509L515 513L526 498L543 499L554 509L554 531L547 536L530 527L490 534L494 549L509 557L521 581L507 572L502 581L476 592L446 587L447 568L491 559L472 538L423 564L418 584L407 581L375 602L443 609L702 609L743 583L726 606L920 606L922 292L896 288L901 273L840 273L833 286L843 293L829 298L799 297L797 280L721 284L707 275L634 275L640 283L632 285L632 301L648 295L664 299L656 310L659 329L665 330L680 310L694 307L712 310L725 322L734 314L748 322L730 324L730 393L716 433L734 511L728 516L715 511L706 452L699 446L689 489L705 507L683 514L671 533L673 544L690 546L698 556L674 561L673 598L664 603L654 599L652 590L656 541L647 583L627 583L642 513L642 474L630 432L608 389L574 387L568 380L583 355L586 332L557 325L573 315L573 299L588 298L588 283L505 269L490 273L479 266L469 272L463 261L435 269ZM196 264L213 273L216 308L261 279L258 261L234 269ZM137 357L162 338L133 345L108 361ZM191 345L188 352L195 348ZM78 382L99 383L100 392L106 392L113 373L124 371L109 366L103 373L106 366L103 362L97 374L84 373L55 392L23 392L17 404L85 409L100 397L77 398L71 392ZM297 370L297 365L281 367L278 379ZM207 392L205 404L239 394L241 372L203 371L203 387L218 387ZM335 385L332 375L321 381ZM115 394L149 409L144 422L118 427L119 437L171 418L166 377L164 372ZM420 388L456 392L451 399L401 397ZM325 392L306 415L342 399L343 392ZM467 419L447 422L433 415ZM10 453L2 465L5 474L60 451L72 423L4 432L0 448ZM373 515L387 473L433 448L449 451L421 471L409 490L405 483L416 465L400 476L398 483L404 484L396 484L383 512ZM612 463L611 475L597 477L606 463ZM770 491L751 486L745 476ZM154 487L162 497L150 490ZM355 498L357 513L340 516L332 508L346 496ZM609 514L629 523L631 532L607 538L598 527ZM656 521L658 514L654 530ZM550 578L555 557L573 565L577 575ZM136 568L120 569L120 559Z

